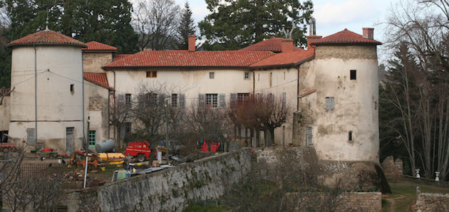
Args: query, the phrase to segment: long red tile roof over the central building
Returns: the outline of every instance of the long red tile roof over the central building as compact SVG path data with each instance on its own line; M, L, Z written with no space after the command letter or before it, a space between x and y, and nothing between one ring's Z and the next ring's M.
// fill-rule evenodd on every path
M261 51L141 51L114 61L103 68L143 67L249 67L252 63L274 55Z

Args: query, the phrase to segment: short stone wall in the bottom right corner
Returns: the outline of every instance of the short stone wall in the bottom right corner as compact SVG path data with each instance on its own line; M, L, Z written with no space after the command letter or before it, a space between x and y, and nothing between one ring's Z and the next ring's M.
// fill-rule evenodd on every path
M416 211L449 211L449 194L417 192Z

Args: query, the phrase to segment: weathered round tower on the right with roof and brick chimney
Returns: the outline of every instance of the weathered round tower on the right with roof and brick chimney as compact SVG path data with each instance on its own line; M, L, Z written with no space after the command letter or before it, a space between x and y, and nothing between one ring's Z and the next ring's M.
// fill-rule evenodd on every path
M312 134L319 159L378 160L378 60L373 28L345 29L313 41L316 105Z

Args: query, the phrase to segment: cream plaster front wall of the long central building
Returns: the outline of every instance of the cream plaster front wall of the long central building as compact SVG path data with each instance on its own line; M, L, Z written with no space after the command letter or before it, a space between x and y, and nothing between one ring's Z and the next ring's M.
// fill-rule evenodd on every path
M147 78L147 71L158 71L157 78ZM215 78L210 79L209 73ZM252 92L252 73L250 80L244 80L246 69L189 69L189 68L145 68L137 70L115 70L115 91L130 93L136 97L140 83L165 85L168 92L185 93L186 107L197 103L199 93L224 93L229 102L232 92ZM112 75L112 76L110 76ZM113 84L113 73L109 72L108 80ZM110 85L111 85L110 84Z

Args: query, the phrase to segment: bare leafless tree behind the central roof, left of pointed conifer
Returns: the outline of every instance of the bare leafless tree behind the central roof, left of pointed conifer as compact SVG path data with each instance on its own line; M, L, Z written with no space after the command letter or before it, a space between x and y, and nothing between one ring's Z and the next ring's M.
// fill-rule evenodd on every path
M177 34L180 7L173 0L140 0L135 4L133 26L140 50L170 48Z

